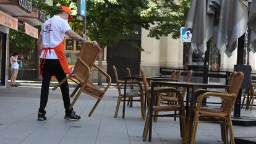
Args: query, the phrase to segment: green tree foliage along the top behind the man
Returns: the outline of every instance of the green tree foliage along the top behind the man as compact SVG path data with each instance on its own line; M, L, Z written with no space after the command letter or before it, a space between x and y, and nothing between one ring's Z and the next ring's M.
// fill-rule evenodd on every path
M76 20L77 0L54 0L53 6L46 5L45 0L32 2L48 18L56 14L59 7L70 7L74 20L69 24L82 35L83 23ZM87 38L98 41L101 47L112 46L122 40L124 34L134 35L134 25L150 30L150 37L159 39L171 34L179 38L189 4L190 0L90 0L87 1ZM20 46L32 46L32 39L20 32L11 32L11 42L22 43Z

